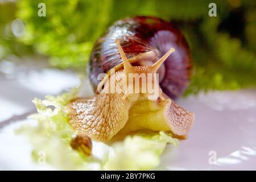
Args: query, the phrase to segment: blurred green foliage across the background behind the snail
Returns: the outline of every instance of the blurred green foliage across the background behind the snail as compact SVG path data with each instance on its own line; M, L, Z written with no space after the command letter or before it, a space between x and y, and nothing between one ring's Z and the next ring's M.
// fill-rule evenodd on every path
M46 17L38 4L46 4ZM209 3L217 17L208 15ZM256 85L256 1L0 0L0 61L46 57L52 67L86 71L94 41L115 20L151 15L184 33L193 56L185 92Z

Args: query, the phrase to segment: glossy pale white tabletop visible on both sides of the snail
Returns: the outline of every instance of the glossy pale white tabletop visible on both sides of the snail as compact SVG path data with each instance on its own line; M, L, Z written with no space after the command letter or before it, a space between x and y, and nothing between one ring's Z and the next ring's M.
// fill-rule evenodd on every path
M34 97L59 94L79 84L79 78L38 63L23 69L5 64L10 68L7 72L0 64L0 126L7 124L0 129L0 169L54 169L32 163L27 138L17 137L14 129L34 122L26 119L35 112ZM82 93L92 94L88 82ZM256 89L201 93L177 102L195 112L195 124L179 148L167 146L157 169L256 170Z

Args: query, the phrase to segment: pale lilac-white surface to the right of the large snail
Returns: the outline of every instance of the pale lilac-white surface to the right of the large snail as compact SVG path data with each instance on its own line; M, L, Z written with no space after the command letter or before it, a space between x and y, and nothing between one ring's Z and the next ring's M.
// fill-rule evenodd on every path
M255 89L200 94L179 104L196 113L196 120L189 138L164 152L164 167L256 170Z

